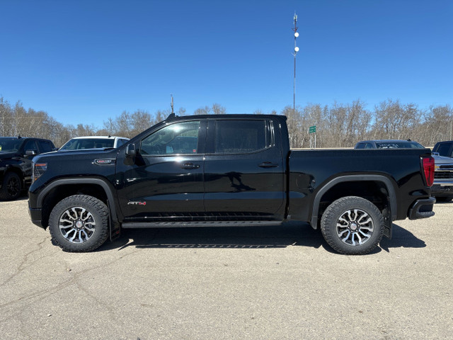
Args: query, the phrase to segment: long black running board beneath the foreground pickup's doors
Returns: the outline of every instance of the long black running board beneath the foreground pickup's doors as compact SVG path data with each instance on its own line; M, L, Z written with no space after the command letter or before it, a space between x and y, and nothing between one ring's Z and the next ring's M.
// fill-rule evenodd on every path
M126 222L121 227L132 228L174 228L174 227L258 227L281 225L279 221L193 221L193 222Z

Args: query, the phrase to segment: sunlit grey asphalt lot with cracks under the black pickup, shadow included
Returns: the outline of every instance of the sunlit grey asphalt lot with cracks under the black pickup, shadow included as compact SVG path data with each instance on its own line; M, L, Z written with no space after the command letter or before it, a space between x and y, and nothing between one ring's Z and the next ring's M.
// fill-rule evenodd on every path
M1 339L452 339L453 203L367 256L309 225L147 229L70 254L0 202Z

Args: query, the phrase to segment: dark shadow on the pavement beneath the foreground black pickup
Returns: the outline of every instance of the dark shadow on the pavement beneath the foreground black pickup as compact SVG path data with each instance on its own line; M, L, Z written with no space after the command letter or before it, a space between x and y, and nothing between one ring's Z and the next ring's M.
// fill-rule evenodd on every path
M120 239L107 242L98 251L122 250L134 246L138 249L152 248L230 248L230 249L269 249L287 246L306 246L318 249L323 247L335 253L326 243L319 230L300 222L287 222L283 225L266 227L185 227L154 229L123 229ZM389 252L401 246L423 248L425 242L408 230L394 224L391 240L382 239L381 249Z

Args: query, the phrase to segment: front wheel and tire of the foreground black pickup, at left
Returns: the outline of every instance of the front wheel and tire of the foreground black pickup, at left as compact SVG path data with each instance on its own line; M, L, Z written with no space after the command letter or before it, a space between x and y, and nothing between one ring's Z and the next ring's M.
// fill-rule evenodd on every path
M108 208L92 196L74 195L61 200L50 213L52 242L64 251L93 251L108 238Z

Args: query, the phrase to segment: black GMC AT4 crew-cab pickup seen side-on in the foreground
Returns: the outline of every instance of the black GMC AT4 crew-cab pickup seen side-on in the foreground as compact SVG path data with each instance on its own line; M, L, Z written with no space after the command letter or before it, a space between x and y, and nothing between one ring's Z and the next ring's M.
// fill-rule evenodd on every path
M65 251L121 228L321 228L342 254L366 254L394 220L434 215L430 149L292 150L285 116L169 116L117 149L36 157L35 225Z

